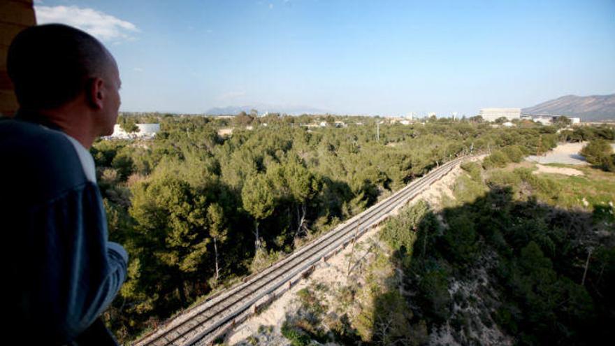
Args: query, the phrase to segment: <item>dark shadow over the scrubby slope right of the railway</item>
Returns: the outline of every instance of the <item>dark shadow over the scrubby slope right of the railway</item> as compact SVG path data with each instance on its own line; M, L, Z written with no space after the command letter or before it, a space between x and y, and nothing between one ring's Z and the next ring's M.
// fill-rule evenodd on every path
M615 336L608 216L519 200L499 186L438 215L417 213L398 216L415 219L397 222L401 229L389 236L381 232L403 279L389 277L385 293L373 297L372 343L421 345L425 332L431 343L462 345L591 345ZM612 206L598 210L612 213ZM396 239L404 232L410 247Z

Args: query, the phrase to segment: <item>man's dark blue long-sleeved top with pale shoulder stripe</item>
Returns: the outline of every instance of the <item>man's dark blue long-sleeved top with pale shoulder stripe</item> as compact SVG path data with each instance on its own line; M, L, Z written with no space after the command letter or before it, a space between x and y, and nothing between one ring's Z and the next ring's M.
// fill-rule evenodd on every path
M94 161L61 131L2 120L0 165L5 345L71 343L126 278L128 256L108 241Z

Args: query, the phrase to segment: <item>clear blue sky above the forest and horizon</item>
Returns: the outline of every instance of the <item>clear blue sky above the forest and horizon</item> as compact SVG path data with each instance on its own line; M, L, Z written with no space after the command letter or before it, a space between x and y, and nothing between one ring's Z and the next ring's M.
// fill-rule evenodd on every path
M615 92L613 0L35 3L107 45L125 111L475 115Z

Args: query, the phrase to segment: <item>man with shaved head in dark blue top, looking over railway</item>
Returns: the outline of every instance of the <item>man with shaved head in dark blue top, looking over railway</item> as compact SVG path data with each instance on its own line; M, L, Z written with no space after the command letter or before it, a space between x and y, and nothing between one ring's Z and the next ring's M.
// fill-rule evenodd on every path
M61 24L18 34L7 70L20 109L0 121L1 306L9 334L1 338L89 345L82 336L100 323L128 261L108 241L89 154L96 137L113 133L120 74L96 38Z

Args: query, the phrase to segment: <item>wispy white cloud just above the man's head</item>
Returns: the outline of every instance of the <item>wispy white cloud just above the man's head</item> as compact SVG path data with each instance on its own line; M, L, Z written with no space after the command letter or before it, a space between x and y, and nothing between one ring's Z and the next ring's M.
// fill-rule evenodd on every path
M92 8L77 6L34 6L36 22L62 23L77 27L102 41L119 42L133 40L139 32L135 24L120 20Z

